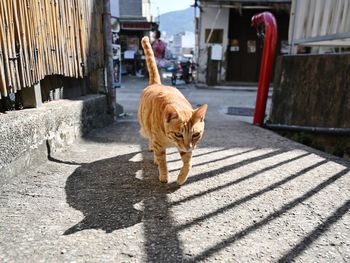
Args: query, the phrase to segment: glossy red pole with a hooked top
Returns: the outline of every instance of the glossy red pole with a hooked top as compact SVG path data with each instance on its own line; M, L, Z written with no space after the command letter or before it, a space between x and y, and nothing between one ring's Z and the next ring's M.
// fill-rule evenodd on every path
M260 24L265 25L265 42L261 58L259 85L256 96L253 124L262 126L264 123L272 66L275 58L277 24L275 17L270 12L263 12L252 17L252 26L258 28Z

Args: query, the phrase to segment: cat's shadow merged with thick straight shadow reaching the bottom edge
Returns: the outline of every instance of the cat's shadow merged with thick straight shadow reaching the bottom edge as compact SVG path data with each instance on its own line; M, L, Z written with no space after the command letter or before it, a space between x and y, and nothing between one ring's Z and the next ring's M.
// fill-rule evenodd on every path
M181 244L167 202L167 194L178 186L161 184L151 159L131 161L138 153L84 164L69 176L65 187L67 202L81 211L84 219L64 235L87 229L111 233L142 222L148 261L179 262ZM141 208L136 209L140 202Z

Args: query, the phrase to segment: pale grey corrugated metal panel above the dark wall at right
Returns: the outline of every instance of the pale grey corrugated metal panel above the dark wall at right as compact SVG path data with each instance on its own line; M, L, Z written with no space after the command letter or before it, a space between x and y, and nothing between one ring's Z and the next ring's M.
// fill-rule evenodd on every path
M350 1L293 0L289 43L350 45Z

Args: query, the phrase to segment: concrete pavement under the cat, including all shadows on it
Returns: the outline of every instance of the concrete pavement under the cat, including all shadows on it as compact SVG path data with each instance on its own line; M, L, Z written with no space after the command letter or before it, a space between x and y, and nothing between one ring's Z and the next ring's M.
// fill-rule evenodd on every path
M350 163L229 116L255 94L179 86L209 104L193 169L168 151L161 184L136 108L1 189L1 262L349 262ZM243 120L243 121L242 121Z

